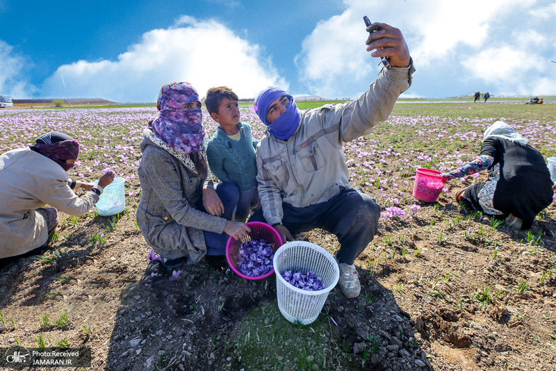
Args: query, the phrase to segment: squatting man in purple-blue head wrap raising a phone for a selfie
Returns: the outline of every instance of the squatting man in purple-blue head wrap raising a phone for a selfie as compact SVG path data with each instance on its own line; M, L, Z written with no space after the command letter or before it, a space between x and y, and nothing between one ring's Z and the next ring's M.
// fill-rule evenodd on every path
M301 113L290 94L270 87L254 104L268 129L256 150L262 208L250 220L271 224L284 241L315 228L334 233L340 242L338 284L349 298L361 291L354 261L377 233L380 206L350 186L342 146L389 117L414 72L398 28L374 23L367 31L376 31L368 35L367 50L388 57L391 67L382 68L359 98Z

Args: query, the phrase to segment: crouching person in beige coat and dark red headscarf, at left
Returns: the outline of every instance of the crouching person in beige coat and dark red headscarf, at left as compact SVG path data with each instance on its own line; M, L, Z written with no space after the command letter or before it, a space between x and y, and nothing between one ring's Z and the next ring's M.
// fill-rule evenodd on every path
M0 156L0 258L40 254L56 231L58 210L80 216L99 201L115 174L107 172L98 184L69 179L78 155L77 140L51 131ZM78 188L88 192L78 197Z

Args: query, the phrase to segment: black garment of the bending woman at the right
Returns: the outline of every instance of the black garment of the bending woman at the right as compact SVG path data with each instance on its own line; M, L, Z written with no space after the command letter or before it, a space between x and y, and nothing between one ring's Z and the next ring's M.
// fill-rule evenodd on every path
M502 211L504 217L512 213L523 219L521 229L530 229L534 217L553 202L553 182L544 158L530 145L520 145L502 138L486 138L481 147L481 156L492 156L489 178L495 176L496 165L500 166L500 179L496 183L493 206ZM467 188L464 202L482 211L479 192L484 183Z

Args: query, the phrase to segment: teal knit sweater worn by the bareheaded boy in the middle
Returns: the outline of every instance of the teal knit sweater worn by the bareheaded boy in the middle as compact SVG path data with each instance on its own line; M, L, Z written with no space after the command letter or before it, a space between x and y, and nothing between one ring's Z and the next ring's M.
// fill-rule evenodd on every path
M240 140L231 139L220 127L206 145L206 159L211 172L221 181L231 181L239 190L256 187L255 149L251 126L238 124Z

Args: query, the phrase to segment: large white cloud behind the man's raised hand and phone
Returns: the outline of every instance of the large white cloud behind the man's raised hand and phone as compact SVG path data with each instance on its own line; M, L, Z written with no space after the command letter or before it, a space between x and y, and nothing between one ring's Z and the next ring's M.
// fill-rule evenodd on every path
M354 97L375 79L378 61L365 50L363 15L404 34L417 69L410 94L453 96L486 85L496 94L533 94L539 88L556 94L555 83L547 83L556 77L554 64L541 63L555 58L553 0L344 4L341 15L317 24L295 58L300 80L312 94Z

